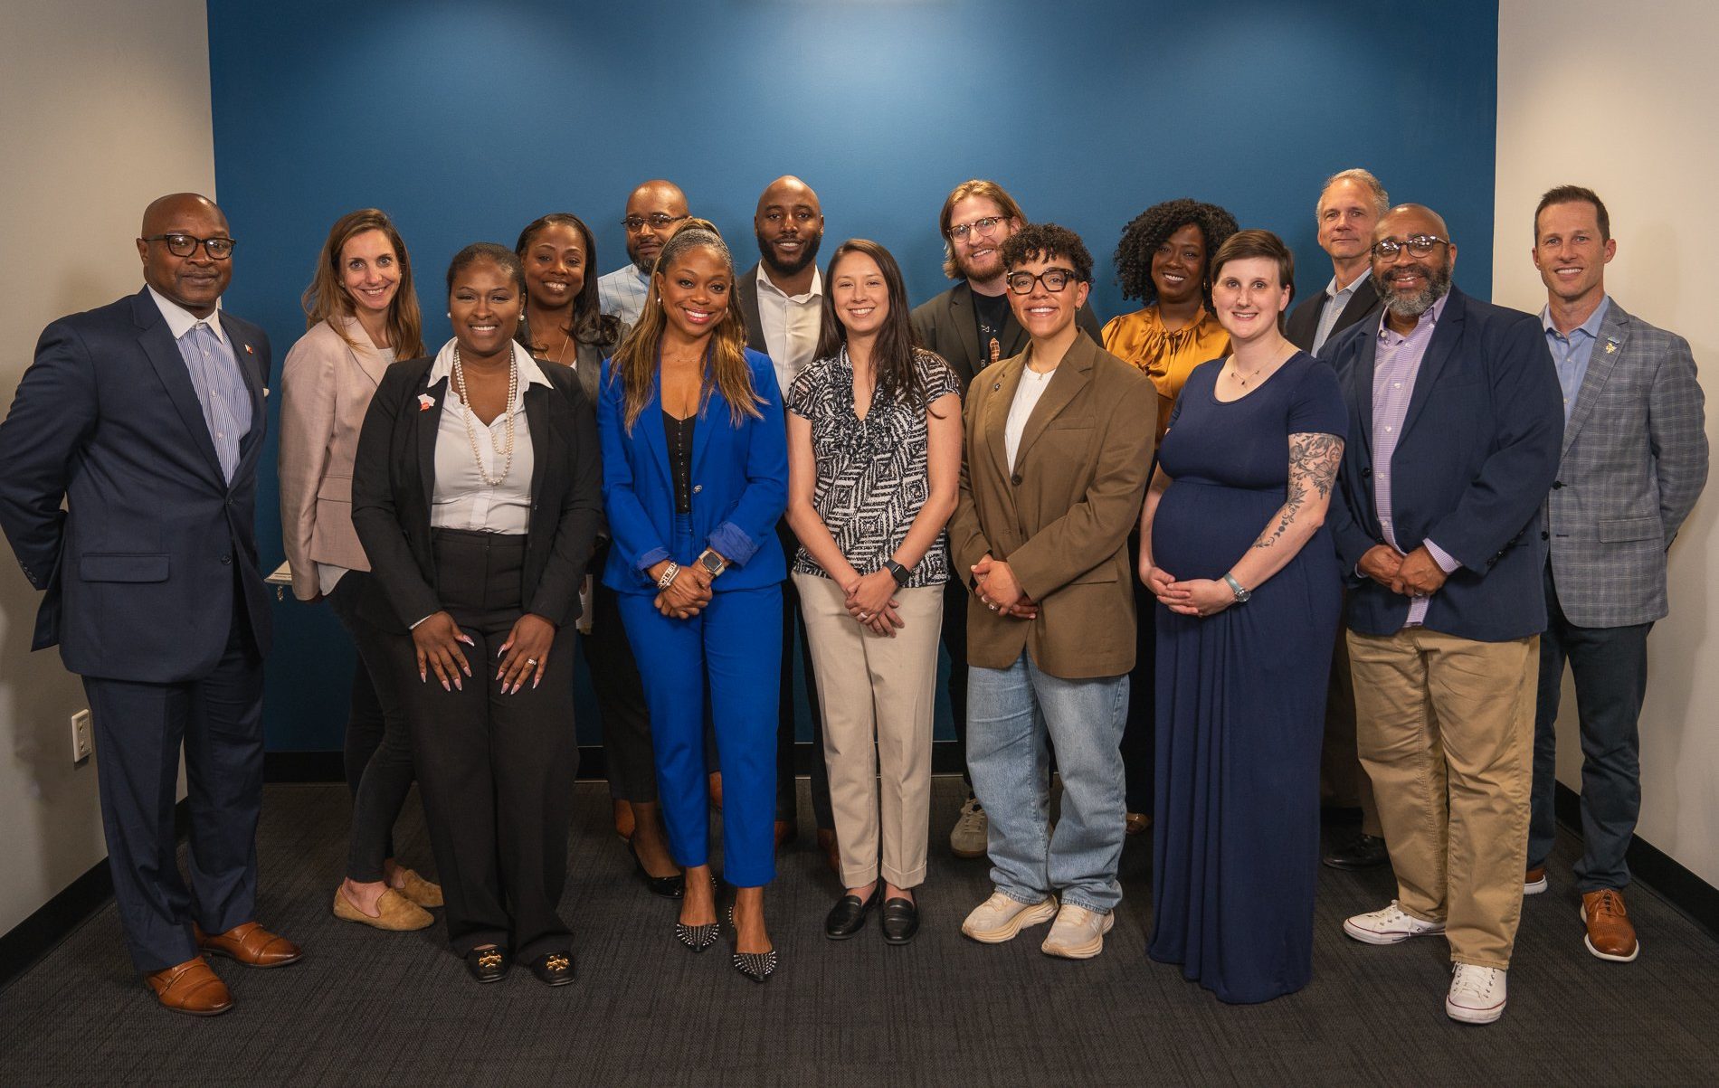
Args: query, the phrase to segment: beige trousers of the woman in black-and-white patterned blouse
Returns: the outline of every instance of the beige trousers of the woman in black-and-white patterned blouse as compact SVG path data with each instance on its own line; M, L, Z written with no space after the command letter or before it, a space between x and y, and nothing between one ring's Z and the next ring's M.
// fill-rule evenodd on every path
M884 880L918 887L932 818L944 588L897 590L896 614L906 626L884 638L847 615L847 598L829 578L794 574L794 584L818 672L842 885L877 880L882 853Z

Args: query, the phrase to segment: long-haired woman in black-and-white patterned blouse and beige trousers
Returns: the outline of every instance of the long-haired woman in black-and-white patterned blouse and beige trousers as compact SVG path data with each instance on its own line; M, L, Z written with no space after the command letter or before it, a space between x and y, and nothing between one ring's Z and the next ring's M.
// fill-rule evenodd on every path
M882 901L884 940L906 944L920 928L913 889L925 880L961 387L942 358L915 347L887 249L842 242L823 282L817 359L787 395L794 584L823 701L846 885L823 932L853 937Z

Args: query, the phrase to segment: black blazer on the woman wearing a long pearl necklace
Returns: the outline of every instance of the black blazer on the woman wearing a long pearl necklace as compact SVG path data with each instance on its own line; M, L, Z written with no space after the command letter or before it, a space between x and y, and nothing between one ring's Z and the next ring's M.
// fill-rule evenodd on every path
M380 588L359 612L404 631L442 610L430 543L435 438L449 380L430 385L435 359L395 363L376 387L352 464L352 528ZM579 615L579 583L603 516L596 416L566 366L543 366L554 388L524 390L531 435L531 517L519 586L524 610L562 626ZM423 407L419 395L431 399Z

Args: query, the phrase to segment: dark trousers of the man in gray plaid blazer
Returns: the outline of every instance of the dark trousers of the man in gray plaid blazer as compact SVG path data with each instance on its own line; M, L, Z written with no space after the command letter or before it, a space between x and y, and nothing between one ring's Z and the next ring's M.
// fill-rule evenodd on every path
M1533 806L1528 866L1545 865L1557 840L1557 700L1564 662L1576 682L1581 730L1581 859L1576 890L1630 885L1624 854L1642 815L1642 737L1647 698L1647 633L1654 624L1578 627L1557 603L1545 565L1545 634L1540 636L1540 693L1533 715Z

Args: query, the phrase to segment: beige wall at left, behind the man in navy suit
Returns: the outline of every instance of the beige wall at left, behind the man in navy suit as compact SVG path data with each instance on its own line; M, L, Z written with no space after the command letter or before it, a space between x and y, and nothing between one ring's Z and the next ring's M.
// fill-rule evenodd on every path
M215 193L203 0L7 3L0 34L0 400L53 318L143 285L138 220ZM29 653L41 598L0 562L0 933L107 856L84 706L57 651ZM100 758L100 756L98 756Z

